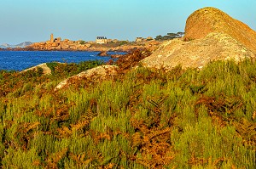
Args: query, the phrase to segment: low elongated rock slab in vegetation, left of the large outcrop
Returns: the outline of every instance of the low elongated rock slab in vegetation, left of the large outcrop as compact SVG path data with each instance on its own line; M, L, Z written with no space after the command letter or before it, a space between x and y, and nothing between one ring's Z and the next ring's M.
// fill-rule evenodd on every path
M68 87L71 85L73 82L79 82L83 80L83 78L92 78L93 76L100 77L100 78L105 78L106 76L113 76L117 73L117 68L118 66L115 65L101 65L97 66L96 68L92 68L90 70L85 70L78 75L71 76L67 78L66 80L60 82L56 87L55 91L63 88L63 87Z

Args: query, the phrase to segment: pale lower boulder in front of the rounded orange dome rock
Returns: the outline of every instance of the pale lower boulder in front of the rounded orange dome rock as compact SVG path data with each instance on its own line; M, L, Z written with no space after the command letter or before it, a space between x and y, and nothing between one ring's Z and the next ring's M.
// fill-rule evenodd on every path
M163 43L154 54L142 60L146 67L165 67L171 69L177 65L185 67L203 67L218 59L240 61L255 55L230 35L212 32L203 39L183 42L175 39Z

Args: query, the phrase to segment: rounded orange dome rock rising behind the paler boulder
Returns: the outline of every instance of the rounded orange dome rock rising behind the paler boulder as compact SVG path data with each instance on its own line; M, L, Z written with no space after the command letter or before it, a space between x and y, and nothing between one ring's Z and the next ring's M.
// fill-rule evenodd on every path
M256 54L256 31L218 8L201 8L190 14L185 27L185 40L207 37L210 32L229 34Z

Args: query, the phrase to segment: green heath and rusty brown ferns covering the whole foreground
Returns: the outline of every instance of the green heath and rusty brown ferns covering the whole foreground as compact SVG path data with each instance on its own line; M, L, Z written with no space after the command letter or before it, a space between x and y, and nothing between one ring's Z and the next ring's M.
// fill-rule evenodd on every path
M169 72L125 62L117 76L58 92L79 65L51 64L49 76L2 70L0 167L256 167L253 60Z

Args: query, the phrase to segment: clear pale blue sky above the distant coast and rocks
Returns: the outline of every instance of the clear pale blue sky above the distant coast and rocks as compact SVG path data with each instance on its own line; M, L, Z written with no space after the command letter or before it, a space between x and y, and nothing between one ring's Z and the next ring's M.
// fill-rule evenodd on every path
M0 44L55 37L134 40L183 31L196 9L215 7L256 30L255 0L0 0Z

